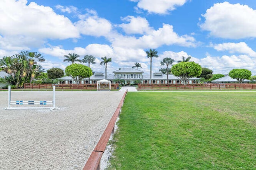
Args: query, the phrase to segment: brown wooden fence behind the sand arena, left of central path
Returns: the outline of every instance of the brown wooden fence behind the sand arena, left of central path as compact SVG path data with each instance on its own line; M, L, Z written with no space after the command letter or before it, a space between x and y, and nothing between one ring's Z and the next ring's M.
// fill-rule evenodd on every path
M96 90L97 84L24 84L23 88L29 89L52 89L55 86L56 89L68 90L68 89L84 89L84 90ZM111 89L117 89L118 84L111 84Z

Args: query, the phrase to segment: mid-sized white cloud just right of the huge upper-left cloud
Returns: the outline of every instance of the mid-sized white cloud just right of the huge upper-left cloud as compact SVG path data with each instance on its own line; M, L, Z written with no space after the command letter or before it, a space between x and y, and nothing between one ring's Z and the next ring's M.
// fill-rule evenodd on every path
M96 37L107 36L112 30L110 21L98 17L94 10L87 10L87 14L80 15L80 20L75 23L80 33Z

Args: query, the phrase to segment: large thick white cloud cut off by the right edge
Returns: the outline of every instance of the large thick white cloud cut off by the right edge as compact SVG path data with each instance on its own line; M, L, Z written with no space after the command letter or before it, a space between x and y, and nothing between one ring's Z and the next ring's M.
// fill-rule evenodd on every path
M214 4L202 15L203 30L220 38L241 39L256 37L256 10L247 5L230 4L229 2Z

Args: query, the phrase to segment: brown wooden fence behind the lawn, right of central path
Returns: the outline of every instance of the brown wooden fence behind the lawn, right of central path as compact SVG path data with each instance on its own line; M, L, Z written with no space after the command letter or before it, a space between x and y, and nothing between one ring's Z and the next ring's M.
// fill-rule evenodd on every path
M138 84L137 90L175 90L175 89L195 89L195 90L220 90L220 89L256 89L256 84Z

